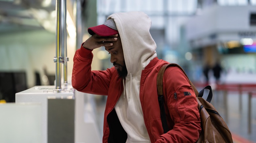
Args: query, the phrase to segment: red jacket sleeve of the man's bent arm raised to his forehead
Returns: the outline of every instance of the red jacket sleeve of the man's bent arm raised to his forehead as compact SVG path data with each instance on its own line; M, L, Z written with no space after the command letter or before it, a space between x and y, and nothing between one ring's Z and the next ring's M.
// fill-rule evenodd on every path
M107 95L113 69L91 71L92 51L81 46L75 52L72 86L81 92Z

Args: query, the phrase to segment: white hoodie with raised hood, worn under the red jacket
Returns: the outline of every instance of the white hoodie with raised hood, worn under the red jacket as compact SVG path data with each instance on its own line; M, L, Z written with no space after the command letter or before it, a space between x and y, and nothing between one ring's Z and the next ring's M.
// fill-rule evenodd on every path
M150 143L139 99L141 71L157 56L156 43L149 33L151 20L143 12L121 12L114 19L119 32L128 75L124 92L115 110L126 131L127 143Z

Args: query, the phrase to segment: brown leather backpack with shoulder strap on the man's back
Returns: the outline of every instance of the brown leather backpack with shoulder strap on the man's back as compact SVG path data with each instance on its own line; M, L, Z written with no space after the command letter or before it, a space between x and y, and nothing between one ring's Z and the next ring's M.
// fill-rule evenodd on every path
M158 99L160 105L160 114L162 120L162 126L164 133L168 132L167 121L165 117L165 111L163 106L163 73L165 69L169 66L178 67L181 71L184 72L188 78L185 71L177 64L167 64L161 67L157 75L157 90L158 90ZM189 80L189 79L188 79ZM197 91L196 87L189 80L191 87L194 89L194 92L197 96L198 110L201 118L201 127L202 131L199 136L197 143L233 143L232 135L220 114L216 111L214 106L210 103L212 99L212 89L210 86L206 86L200 92ZM207 99L203 99L204 90L209 90ZM168 109L167 109L168 110Z

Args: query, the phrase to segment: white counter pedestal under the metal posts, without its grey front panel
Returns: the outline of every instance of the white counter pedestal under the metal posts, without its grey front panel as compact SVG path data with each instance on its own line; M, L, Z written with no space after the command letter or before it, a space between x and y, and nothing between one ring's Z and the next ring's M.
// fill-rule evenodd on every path
M42 105L42 143L47 143L47 99L73 98L75 99L75 143L100 143L99 131L96 125L95 112L90 103L84 103L86 93L74 89L65 89L61 93L54 93L55 86L35 86L16 93L16 103L41 103ZM86 115L86 117L84 117Z

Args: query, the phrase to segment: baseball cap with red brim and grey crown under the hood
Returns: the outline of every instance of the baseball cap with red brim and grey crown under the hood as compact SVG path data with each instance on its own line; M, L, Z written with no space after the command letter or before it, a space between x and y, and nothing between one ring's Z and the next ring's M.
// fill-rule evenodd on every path
M108 19L104 24L88 28L91 35L111 36L118 34L117 26L114 19Z

